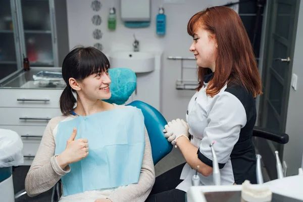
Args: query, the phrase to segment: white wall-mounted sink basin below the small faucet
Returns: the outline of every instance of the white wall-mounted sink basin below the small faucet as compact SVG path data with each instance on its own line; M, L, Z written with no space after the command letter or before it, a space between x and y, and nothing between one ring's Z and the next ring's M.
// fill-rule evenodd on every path
M155 55L146 52L117 51L109 55L111 68L129 68L135 73L155 70Z

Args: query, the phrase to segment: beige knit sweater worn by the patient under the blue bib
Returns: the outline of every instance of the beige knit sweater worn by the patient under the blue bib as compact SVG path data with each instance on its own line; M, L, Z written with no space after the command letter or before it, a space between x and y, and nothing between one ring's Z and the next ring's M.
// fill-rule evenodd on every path
M124 107L125 106L115 105L116 109ZM65 170L62 170L57 162L55 157L55 138L59 122L71 120L73 118L75 117L60 116L53 118L47 124L37 154L25 179L25 190L29 196L35 196L51 189L63 175L70 172L69 166L67 166ZM138 183L108 190L91 190L62 196L60 202L94 202L94 200L98 198L109 198L113 202L143 202L150 193L154 183L155 169L153 157L151 156L150 142L145 129L145 149Z

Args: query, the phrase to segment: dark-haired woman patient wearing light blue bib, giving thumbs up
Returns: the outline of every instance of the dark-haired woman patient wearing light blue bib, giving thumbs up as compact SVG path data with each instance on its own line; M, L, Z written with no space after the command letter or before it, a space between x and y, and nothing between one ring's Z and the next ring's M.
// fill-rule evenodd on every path
M102 101L111 97L109 68L107 57L93 47L75 48L65 57L64 115L46 126L25 179L29 196L62 179L61 202L147 198L155 170L144 118L136 108Z

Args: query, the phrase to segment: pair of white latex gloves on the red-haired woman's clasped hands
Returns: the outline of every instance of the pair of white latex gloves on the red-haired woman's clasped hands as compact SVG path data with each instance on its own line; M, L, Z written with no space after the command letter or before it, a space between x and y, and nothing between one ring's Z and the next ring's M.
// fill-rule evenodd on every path
M168 122L168 125L164 127L165 130L163 130L163 132L166 132L165 137L168 138L167 140L175 145L175 147L177 147L176 141L180 136L185 136L188 139L189 127L183 119L172 120L172 122Z

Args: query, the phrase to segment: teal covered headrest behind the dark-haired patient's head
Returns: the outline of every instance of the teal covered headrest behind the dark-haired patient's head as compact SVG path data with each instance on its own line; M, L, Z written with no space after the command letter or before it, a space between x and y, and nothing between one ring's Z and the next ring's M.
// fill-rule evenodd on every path
M110 84L112 96L109 99L104 99L104 101L117 105L126 103L136 89L136 74L128 68L114 68L109 70L109 75L112 80Z

